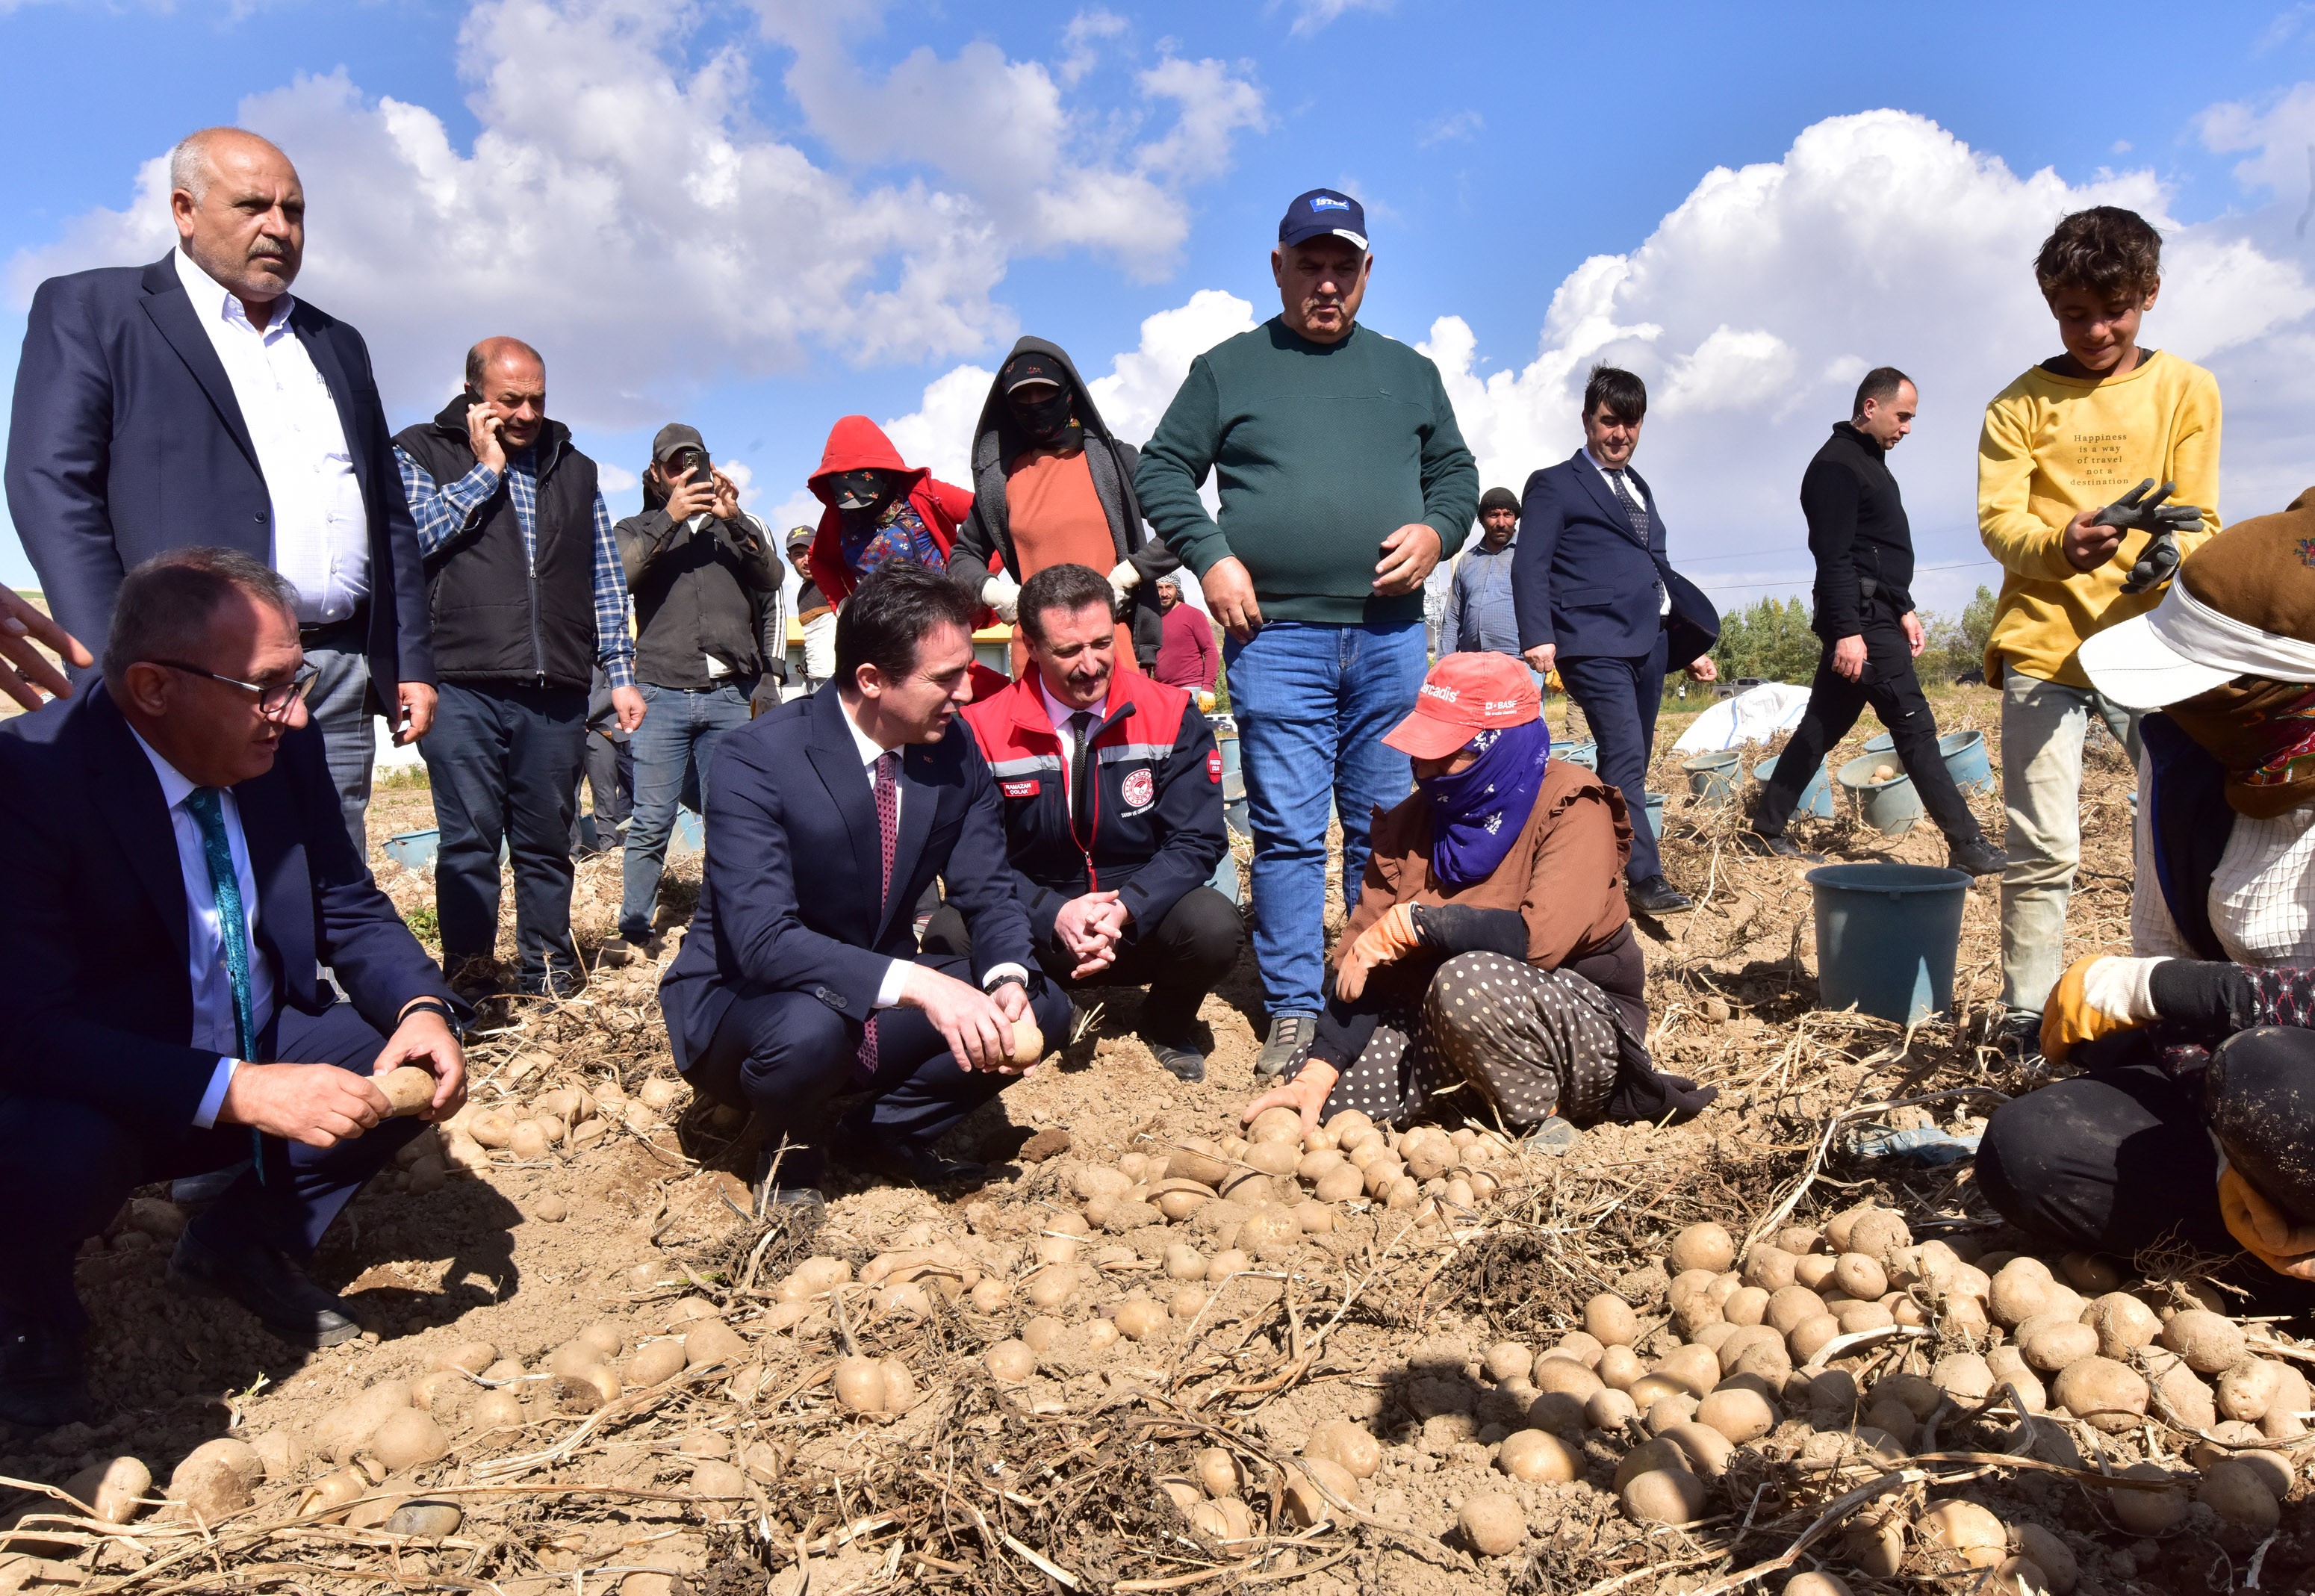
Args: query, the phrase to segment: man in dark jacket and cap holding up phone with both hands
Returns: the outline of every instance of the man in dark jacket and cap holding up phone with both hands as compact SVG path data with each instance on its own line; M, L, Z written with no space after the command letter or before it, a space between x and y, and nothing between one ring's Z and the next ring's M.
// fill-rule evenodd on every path
M632 739L634 818L620 864L618 936L602 945L604 959L625 964L637 950L657 952L651 915L683 771L697 769L706 795L722 734L780 702L787 628L771 530L738 507L738 484L715 470L697 429L669 422L651 440L644 514L620 521L613 535L634 593L634 676L646 711Z

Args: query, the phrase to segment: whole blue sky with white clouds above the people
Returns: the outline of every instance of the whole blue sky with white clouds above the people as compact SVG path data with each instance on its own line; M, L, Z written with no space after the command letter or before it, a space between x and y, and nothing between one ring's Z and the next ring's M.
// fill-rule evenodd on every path
M396 424L514 331L602 461L692 419L792 517L843 412L961 470L1016 331L1146 433L1331 183L1370 213L1364 320L1449 371L1491 482L1574 447L1590 359L1648 378L1639 468L1725 602L1806 588L1801 466L1854 371L1915 371L1894 466L1956 609L1993 577L1977 412L2056 347L2026 262L2077 204L2169 234L2151 341L2220 373L2222 514L2315 477L2310 81L2308 5L0 0L0 364L42 276L160 255L150 162L241 120L299 162L299 287ZM32 579L14 540L0 577Z

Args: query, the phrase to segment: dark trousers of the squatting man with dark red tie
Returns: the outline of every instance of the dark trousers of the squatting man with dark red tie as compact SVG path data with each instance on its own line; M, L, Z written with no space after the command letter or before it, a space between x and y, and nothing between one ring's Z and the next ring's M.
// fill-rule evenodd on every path
M924 954L917 964L972 980L970 964L958 957ZM1046 1038L1070 1035L1070 998L1051 982L1032 975L1028 1005ZM683 1079L718 1103L752 1110L766 1147L785 1137L806 1149L801 1163L792 1156L780 1165L782 1179L803 1184L820 1177L820 1121L831 1098L868 1093L845 1117L847 1133L931 1147L958 1119L1021 1079L956 1068L947 1040L914 1008L877 1010L877 1068L868 1075L859 1066L861 1031L859 1019L838 1015L808 991L741 996Z

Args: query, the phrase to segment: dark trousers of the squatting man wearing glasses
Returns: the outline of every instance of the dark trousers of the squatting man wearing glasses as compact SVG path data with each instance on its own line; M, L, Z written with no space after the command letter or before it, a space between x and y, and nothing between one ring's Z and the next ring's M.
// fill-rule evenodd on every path
M359 1075L384 1047L350 1003L322 1015L282 1010L271 1031L259 1038L262 1056ZM137 1186L225 1170L252 1151L257 1167L243 1170L192 1230L227 1251L266 1242L308 1258L338 1209L419 1130L417 1119L389 1119L336 1147L266 1137L259 1151L248 1126L153 1126L76 1098L9 1093L0 1098L0 1214L9 1216L0 1225L0 1325L86 1330L72 1288L81 1242L102 1235Z

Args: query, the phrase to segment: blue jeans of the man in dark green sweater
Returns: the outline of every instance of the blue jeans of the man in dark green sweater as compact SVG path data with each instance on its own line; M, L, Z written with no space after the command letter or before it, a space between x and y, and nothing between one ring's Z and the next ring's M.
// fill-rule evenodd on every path
M1343 820L1343 908L1359 901L1373 811L1414 774L1382 734L1414 709L1424 623L1271 621L1222 646L1255 827L1255 968L1271 1015L1315 1015L1326 973L1326 799Z

